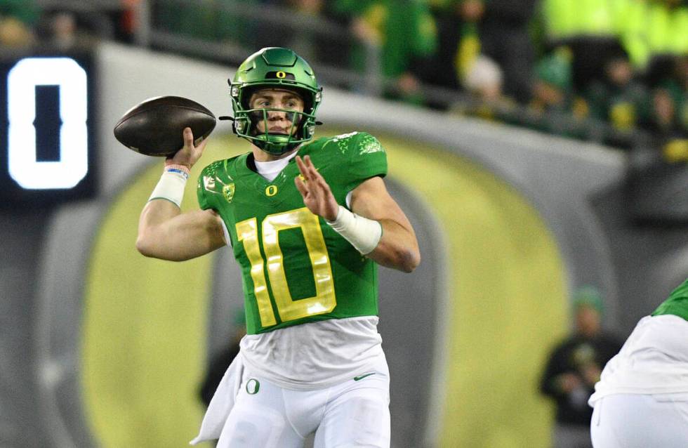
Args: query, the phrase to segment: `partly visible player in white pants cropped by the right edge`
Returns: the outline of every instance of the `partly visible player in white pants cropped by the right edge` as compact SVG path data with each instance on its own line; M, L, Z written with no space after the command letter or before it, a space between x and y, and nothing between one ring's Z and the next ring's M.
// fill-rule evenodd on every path
M640 319L589 403L595 448L688 446L688 280Z

